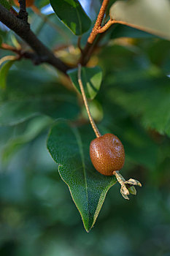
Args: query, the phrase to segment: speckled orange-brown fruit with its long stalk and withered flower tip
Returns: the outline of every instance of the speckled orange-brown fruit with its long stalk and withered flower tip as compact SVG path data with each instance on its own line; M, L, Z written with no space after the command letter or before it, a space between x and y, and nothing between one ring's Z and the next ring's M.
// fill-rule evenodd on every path
M106 176L115 175L117 181L120 183L120 193L122 196L129 200L128 195L136 195L136 189L134 186L142 187L139 181L134 178L125 181L125 178L119 173L119 170L123 167L125 161L125 151L123 144L120 140L112 134L105 134L101 136L96 124L91 116L90 109L88 106L88 99L85 95L85 90L82 84L81 78L81 64L78 64L78 83L82 92L82 99L85 103L85 108L88 113L90 124L96 134L96 139L90 143L90 159L96 170Z

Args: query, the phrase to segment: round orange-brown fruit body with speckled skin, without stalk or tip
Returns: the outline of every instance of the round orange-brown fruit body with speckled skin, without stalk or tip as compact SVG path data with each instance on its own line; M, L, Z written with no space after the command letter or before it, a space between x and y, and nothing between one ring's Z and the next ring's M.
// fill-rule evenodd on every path
M114 170L120 170L124 165L123 144L117 136L107 133L91 141L90 159L99 173L112 176Z

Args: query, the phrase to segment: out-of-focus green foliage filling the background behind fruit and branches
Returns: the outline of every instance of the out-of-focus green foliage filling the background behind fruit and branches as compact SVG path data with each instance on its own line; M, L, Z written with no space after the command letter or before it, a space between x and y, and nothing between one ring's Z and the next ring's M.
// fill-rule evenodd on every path
M48 1L36 1L37 7L45 4ZM66 45L67 37L72 47L58 50L58 55L77 59L77 37L58 18L48 16L65 37L31 10L29 15L31 27L46 45ZM89 32L82 36L82 44ZM11 31L2 29L0 34L3 42L13 45ZM143 187L126 201L115 184L96 225L86 233L46 148L55 118L77 121L79 116L88 122L82 102L69 81L51 67L15 61L7 76L7 89L1 90L0 96L0 119L4 115L6 121L15 120L13 125L1 122L0 127L1 256L170 255L170 42L141 34L135 39L103 42L90 60L103 70L94 101L100 106L97 114L103 116L98 127L121 138L126 154L123 176L139 179ZM10 52L0 50L1 57L7 54ZM64 107L56 107L58 95ZM51 97L50 105L45 100L41 103ZM37 98L40 101L35 104ZM18 108L14 102L26 106ZM4 112L7 104L13 108ZM96 108L91 110L96 116Z

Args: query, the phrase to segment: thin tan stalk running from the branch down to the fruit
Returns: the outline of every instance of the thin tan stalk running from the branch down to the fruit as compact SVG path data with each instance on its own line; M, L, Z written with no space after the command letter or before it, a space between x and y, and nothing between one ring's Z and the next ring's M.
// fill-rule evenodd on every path
M91 124L91 126L93 128L93 131L96 134L96 137L101 137L101 134L98 131L98 128L96 127L96 124L95 124L95 122L93 120L93 117L91 116L90 109L89 109L89 106L88 106L88 99L85 96L85 90L84 90L84 87L82 85L82 78L81 78L81 64L78 64L78 82L79 82L79 85L80 85L80 90L82 92L82 99L83 99L83 101L85 103L85 108L86 108L87 113L88 113L88 118L90 120L90 124Z

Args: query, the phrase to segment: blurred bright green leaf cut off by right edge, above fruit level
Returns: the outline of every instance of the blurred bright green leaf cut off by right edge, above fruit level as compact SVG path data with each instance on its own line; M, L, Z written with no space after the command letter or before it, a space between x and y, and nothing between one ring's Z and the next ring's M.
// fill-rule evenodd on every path
M143 88L131 91L129 86L128 90L125 86L123 89L120 83L117 87L109 89L107 94L130 115L139 117L145 128L170 136L169 82L170 79L164 76L160 78L150 76L144 79L143 83L147 86Z

